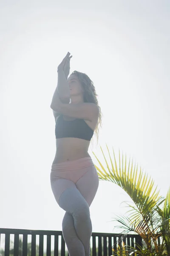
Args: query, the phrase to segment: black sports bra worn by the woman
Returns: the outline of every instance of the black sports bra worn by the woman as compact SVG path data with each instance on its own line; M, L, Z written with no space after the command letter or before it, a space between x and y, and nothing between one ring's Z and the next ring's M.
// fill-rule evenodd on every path
M55 125L56 139L74 137L84 140L91 140L94 131L87 125L84 119L65 120L60 115Z

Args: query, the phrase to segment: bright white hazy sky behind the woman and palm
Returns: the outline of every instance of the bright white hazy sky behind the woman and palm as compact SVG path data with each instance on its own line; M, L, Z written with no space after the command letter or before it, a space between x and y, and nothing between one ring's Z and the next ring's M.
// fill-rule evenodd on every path
M88 74L103 113L99 145L119 148L166 196L170 186L170 2L168 0L1 1L0 227L62 230L50 172L57 66ZM94 143L95 144L95 143ZM89 149L105 166L98 146ZM113 156L113 154L112 154ZM148 178L149 179L149 178ZM130 197L99 181L93 232L119 233L112 221ZM127 214L128 215L128 214Z

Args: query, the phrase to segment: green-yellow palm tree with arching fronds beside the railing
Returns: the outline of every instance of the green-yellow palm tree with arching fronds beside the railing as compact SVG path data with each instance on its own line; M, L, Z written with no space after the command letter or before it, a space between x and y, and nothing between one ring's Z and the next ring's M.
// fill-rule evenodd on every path
M156 192L157 186L153 191L153 179L151 180L151 178L149 178L148 180L148 175L143 175L141 168L140 172L138 172L138 166L136 167L136 164L133 169L133 160L131 165L129 160L127 169L126 156L124 165L123 155L121 168L120 150L119 169L117 167L114 150L113 154L115 166L113 166L113 161L107 144L106 147L111 161L111 168L109 167L108 161L106 160L105 154L100 146L108 170L103 167L102 163L93 152L100 165L100 168L95 165L99 180L107 180L117 184L124 189L125 192L127 192L135 204L135 206L127 204L131 208L128 211L131 212L129 217L121 216L119 218L115 218L114 220L122 224L122 226L116 227L124 228L122 233L125 234L117 242L122 242L122 240L126 238L127 233L135 232L142 237L147 247L143 249L140 245L138 245L139 250L130 247L131 249L129 252L123 255L129 255L130 252L132 253L136 251L142 256L170 256L170 189L167 192L166 198L159 196L159 191ZM160 205L163 202L164 205L161 209ZM160 242L161 238L162 241ZM119 251L121 251L121 249ZM122 251L125 252L125 249L123 248Z

